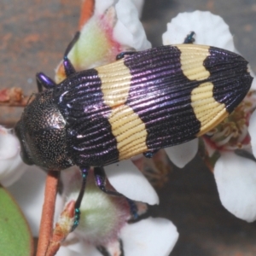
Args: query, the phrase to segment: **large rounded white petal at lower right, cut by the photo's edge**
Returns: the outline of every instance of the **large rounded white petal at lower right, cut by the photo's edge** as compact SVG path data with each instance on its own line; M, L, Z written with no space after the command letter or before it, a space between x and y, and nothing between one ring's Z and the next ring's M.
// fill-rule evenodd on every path
M256 219L256 163L233 153L224 153L214 167L214 177L223 206L237 218Z

